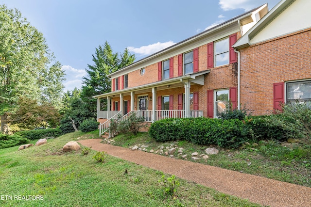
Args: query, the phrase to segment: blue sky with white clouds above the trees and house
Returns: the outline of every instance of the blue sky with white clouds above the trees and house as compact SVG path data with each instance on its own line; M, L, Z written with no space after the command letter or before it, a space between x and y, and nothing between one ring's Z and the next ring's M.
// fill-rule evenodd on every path
M0 0L43 33L67 74L65 89L81 88L95 48L129 48L136 61L234 16L279 0Z

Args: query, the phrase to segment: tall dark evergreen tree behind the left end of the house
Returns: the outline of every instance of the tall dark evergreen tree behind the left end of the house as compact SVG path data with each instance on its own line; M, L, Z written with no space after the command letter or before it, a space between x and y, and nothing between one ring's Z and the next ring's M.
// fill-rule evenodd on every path
M97 101L92 98L99 94L111 92L111 80L107 77L113 73L135 61L135 55L131 55L126 48L119 55L114 53L111 46L106 41L103 46L96 48L93 57L93 65L88 64L86 72L87 77L83 77L82 100L86 103L87 111L90 112L89 117L96 118ZM102 109L106 110L106 100L102 101Z

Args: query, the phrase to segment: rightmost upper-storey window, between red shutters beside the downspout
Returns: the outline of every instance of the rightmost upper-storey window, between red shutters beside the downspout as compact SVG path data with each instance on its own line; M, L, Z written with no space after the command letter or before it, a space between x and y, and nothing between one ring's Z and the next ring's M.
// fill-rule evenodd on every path
M215 42L215 66L229 64L229 38Z

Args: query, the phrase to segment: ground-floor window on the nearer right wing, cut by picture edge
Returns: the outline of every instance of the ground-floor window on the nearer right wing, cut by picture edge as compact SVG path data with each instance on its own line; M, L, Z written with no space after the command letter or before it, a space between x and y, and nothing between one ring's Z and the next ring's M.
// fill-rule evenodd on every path
M306 102L311 104L311 80L286 82L286 103Z

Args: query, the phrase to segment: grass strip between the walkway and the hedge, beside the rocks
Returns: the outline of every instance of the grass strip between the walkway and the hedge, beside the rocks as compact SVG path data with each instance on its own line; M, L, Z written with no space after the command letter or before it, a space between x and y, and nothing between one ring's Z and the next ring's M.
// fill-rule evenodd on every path
M171 142L156 143L148 136L148 133L139 133L136 137L121 134L116 136L114 140L115 145L123 147L147 144L148 151L156 150L160 145L169 146L171 144ZM209 147L187 141L177 141L174 144L183 147L184 154L188 155L193 152L198 152L199 155L204 154L205 149ZM276 141L260 141L258 144L258 146L246 145L244 149L222 149L219 154L209 155L209 159L201 159L198 162L311 187L310 143L300 143L292 147L282 146ZM177 152L175 157L180 158ZM188 156L189 158L190 156Z

